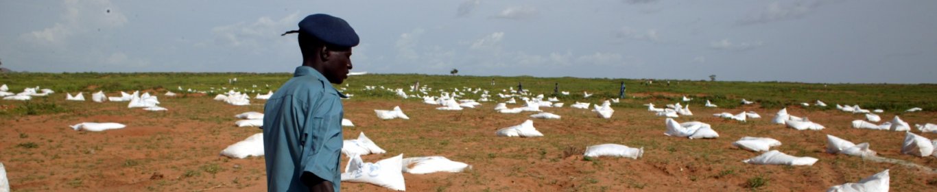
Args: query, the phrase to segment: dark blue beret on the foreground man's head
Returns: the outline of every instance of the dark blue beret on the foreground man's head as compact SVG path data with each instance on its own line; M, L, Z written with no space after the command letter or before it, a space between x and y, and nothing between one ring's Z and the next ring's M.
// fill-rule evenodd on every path
M359 42L358 34L354 33L349 22L321 13L306 16L299 22L299 31L339 47L350 48Z

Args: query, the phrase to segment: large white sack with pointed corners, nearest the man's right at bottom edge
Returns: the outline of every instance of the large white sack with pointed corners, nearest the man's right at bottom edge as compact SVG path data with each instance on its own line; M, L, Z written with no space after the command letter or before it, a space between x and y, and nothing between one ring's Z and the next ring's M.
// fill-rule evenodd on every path
M365 183L379 185L390 188L391 190L405 191L407 185L404 183L403 174L403 154L396 155L387 159L379 160L375 163L365 163L361 155L350 155L345 172L342 173L342 182Z

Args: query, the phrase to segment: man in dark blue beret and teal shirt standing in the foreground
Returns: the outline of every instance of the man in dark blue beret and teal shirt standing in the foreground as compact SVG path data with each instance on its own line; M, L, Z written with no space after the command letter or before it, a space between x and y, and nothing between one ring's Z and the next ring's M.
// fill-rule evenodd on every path
M342 19L309 15L299 22L303 66L267 100L263 150L268 191L338 191L344 110L331 83L351 69L351 47L359 39Z

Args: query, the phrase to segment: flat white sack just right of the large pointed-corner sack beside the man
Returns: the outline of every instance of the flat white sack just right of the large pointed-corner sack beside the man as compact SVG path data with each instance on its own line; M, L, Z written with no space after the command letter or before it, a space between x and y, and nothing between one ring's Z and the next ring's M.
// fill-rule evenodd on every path
M417 156L404 158L401 170L410 174L426 174L433 172L461 172L471 169L468 164L449 160L445 156Z

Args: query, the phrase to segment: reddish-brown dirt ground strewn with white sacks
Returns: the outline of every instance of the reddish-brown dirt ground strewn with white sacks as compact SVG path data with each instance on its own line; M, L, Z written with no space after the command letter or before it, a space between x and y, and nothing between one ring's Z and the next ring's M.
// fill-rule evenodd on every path
M0 120L0 162L7 167L14 191L262 191L265 172L262 157L232 159L218 155L228 145L261 132L256 127L236 127L233 115L262 111L262 100L251 106L230 106L211 96L167 97L158 94L160 106L170 111L127 109L126 102L56 103L64 113L14 116ZM52 100L50 98L50 100ZM0 101L9 108L20 101ZM821 191L832 185L858 182L890 169L891 190L929 191L937 188L937 173L856 156L825 154L826 134L870 142L880 156L937 168L937 158L901 155L903 132L855 129L850 122L861 114L789 107L789 113L807 116L826 126L820 131L797 131L770 124L780 109L706 109L693 105L694 116L678 122L702 121L719 132L716 140L667 137L664 118L652 112L620 108L613 104L611 119L587 110L541 108L561 120L534 120L541 138L498 138L495 131L529 119L531 112L501 114L495 103L479 109L437 111L418 100L345 100L346 118L356 126L345 127L345 138L367 134L383 155L365 155L365 161L403 154L405 157L443 155L473 167L460 173L404 174L409 191ZM633 101L637 103L639 101ZM834 101L826 101L831 105ZM665 103L655 103L662 106ZM373 110L400 106L410 120L379 120ZM517 105L509 105L516 107ZM762 119L747 123L713 117L722 111L757 111ZM880 114L883 122L894 111ZM937 113L900 114L914 124L937 123ZM114 122L124 129L103 132L74 131L82 122ZM920 134L937 139L937 134ZM775 149L789 155L820 160L810 167L759 166L741 161L759 153L733 147L744 136L769 137L783 143ZM32 143L32 144L30 144ZM601 157L584 159L589 145L619 143L644 147L638 159ZM348 161L343 156L342 166ZM367 184L342 183L348 191L384 191Z

